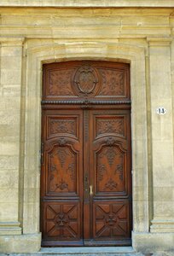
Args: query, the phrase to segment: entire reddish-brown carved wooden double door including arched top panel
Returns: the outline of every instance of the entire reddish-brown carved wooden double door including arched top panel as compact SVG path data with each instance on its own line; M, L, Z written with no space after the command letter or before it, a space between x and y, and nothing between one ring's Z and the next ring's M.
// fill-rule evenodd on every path
M42 245L130 245L129 66L45 65L42 103Z

